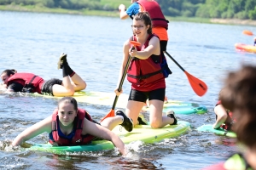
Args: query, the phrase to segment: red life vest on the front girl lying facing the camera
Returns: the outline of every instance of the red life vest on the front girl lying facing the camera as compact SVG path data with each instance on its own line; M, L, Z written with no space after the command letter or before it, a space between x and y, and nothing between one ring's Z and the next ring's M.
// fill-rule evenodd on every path
M53 136L53 140L49 139L50 144L54 145L81 145L81 144L88 144L92 139L95 137L90 134L82 135L83 132L83 126L84 126L84 118L92 122L92 119L90 115L87 113L87 111L84 111L83 109L79 109L78 115L74 120L73 128L75 129L75 134L73 136L72 140L63 139L59 136L58 133L58 123L59 123L59 116L58 116L58 110L56 109L52 114L52 129L51 133Z

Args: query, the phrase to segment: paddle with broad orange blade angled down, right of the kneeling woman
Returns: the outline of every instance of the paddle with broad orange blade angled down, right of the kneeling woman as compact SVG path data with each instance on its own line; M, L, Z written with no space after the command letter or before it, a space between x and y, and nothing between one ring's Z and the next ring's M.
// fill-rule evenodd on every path
M186 76L189 79L190 86L193 88L195 94L202 96L207 93L207 84L205 82L202 82L200 79L193 77L192 75L189 74L189 72L185 71L181 65L177 63L175 59L172 58L170 54L165 52L170 59L186 74Z

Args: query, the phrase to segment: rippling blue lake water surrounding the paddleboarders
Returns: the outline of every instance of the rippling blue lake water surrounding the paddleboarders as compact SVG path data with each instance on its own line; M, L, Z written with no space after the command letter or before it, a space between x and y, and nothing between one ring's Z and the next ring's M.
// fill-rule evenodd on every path
M131 20L71 14L37 14L0 11L0 70L16 69L38 76L61 78L59 55L67 53L69 65L87 82L88 91L113 93L122 61L122 46L131 37ZM253 26L225 26L189 22L169 23L167 51L191 75L207 83L208 91L197 96L183 71L171 59L172 76L166 79L168 99L206 105L203 115L178 115L191 123L191 130L158 144L130 144L128 156L114 150L56 156L27 150L10 150L8 141L55 109L56 99L34 99L19 94L0 95L1 169L201 169L224 161L236 151L236 140L199 133L196 127L213 123L213 107L227 71L242 64L256 64L256 55L237 52L236 42L253 44L243 30ZM166 56L167 57L167 56ZM123 90L130 92L125 81ZM94 119L107 114L111 105L79 104ZM28 141L45 143L46 133Z

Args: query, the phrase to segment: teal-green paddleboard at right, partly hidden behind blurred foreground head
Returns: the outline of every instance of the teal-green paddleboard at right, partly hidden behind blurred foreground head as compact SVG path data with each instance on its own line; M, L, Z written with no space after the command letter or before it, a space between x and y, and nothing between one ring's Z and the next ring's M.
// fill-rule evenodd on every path
M222 136L228 136L230 138L236 138L236 133L224 130L221 127L219 127L218 129L214 129L212 128L212 124L202 125L201 127L197 127L197 130L202 132L215 133Z

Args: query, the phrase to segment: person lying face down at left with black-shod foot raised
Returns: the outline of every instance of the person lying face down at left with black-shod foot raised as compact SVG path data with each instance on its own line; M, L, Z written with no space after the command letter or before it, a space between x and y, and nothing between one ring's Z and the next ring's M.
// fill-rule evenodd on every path
M1 79L7 88L6 92L37 92L38 94L54 96L72 96L74 92L86 88L84 80L68 65L67 54L61 54L58 69L62 69L62 80L53 78L44 81L42 77L32 73L18 73L15 70L3 71Z

